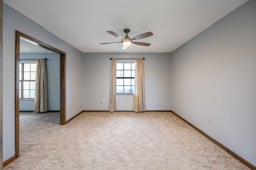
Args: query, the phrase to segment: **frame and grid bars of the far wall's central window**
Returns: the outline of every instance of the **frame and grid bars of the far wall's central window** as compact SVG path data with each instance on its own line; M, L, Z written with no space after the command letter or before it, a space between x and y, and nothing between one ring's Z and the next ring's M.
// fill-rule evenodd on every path
M130 77L118 77L117 76L117 71L119 71L120 69L118 69L117 67L116 67L116 94L117 95L120 95L120 94L134 94L134 84L132 85L132 79L133 79L133 82L134 82L134 80L135 80L135 61L127 61L127 62L116 62L116 64L118 64L118 63L123 63L123 64L125 64L125 63L130 63L131 64L131 66L130 66L130 71L131 71L131 76ZM134 69L132 69L132 64L134 64ZM122 71L123 71L123 74L124 74L124 71L126 71L127 69L124 69L124 65L123 65L123 69L122 69ZM134 77L132 77L132 71L134 71ZM117 80L118 79L123 79L123 85L117 85ZM131 85L124 85L124 79L131 79ZM117 87L118 86L122 86L123 87L123 92L117 92ZM133 87L133 89L131 89L131 92L130 93L128 93L128 92L124 92L124 87L125 86L130 86L131 88Z

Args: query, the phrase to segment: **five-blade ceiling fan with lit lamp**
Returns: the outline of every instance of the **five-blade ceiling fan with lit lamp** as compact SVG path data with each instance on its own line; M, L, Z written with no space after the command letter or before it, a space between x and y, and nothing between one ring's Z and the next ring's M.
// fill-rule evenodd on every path
M147 33L143 33L140 35L137 35L136 37L130 38L128 36L128 33L130 32L130 29L124 29L124 32L126 33L126 36L123 38L120 35L118 35L117 33L113 32L113 31L107 31L108 33L114 35L115 37L118 37L119 39L121 39L121 42L114 42L114 43L100 43L100 44L115 44L115 43L123 43L123 50L127 49L128 45L130 44L135 44L135 45L143 45L143 46L150 46L151 44L149 43L142 43L142 42L134 42L135 40L139 40L139 39L143 39L146 37L150 37L151 35L153 35L152 32L147 32Z

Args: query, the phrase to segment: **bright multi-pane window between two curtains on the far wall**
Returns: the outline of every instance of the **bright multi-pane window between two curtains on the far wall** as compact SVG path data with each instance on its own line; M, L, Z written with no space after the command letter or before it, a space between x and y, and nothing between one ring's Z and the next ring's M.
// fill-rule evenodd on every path
M134 92L135 63L116 63L116 93Z

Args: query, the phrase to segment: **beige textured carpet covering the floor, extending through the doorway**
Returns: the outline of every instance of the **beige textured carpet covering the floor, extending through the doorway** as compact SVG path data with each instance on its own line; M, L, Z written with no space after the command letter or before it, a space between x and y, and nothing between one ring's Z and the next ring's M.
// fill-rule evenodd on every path
M170 112L20 113L20 157L4 170L248 170ZM49 118L52 115L52 118Z

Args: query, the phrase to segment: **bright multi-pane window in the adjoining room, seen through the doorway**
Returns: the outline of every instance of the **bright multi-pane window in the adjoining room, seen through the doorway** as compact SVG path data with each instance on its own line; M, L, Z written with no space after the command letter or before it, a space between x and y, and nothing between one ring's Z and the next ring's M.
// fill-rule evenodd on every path
M35 98L36 63L20 63L20 99Z

